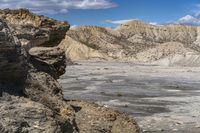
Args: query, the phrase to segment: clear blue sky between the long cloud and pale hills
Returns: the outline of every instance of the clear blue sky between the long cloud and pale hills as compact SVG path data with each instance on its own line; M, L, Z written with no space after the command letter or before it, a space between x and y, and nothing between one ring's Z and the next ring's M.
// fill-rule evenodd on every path
M152 23L177 21L193 14L199 0L113 0L118 6L103 10L71 10L56 17L67 19L74 25L113 26L106 20L140 19Z

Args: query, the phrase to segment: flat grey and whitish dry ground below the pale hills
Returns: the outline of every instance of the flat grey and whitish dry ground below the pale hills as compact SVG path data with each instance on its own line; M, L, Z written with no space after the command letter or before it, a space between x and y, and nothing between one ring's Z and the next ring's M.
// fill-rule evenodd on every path
M200 132L200 68L80 61L66 68L60 83L66 99L126 112L141 132Z

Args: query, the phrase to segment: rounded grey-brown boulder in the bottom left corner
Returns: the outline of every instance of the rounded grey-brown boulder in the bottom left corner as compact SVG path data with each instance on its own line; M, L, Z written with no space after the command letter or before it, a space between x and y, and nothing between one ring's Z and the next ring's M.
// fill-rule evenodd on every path
M1 133L60 133L52 110L27 98L0 97Z

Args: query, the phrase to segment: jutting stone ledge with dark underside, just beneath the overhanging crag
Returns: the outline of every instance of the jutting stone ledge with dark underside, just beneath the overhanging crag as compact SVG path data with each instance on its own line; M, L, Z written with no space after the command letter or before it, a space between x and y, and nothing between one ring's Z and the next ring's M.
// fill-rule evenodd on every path
M51 74L56 79L65 73L66 63L72 64L66 59L64 51L58 47L35 47L29 50L29 55L35 68Z

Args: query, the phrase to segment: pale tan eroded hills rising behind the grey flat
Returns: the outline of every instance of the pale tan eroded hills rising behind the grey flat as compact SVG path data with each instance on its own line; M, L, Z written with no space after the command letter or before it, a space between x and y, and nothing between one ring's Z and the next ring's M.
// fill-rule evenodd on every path
M132 21L116 29L97 26L72 28L60 47L72 60L104 58L155 62L188 54L196 58L200 52L199 36L197 26L155 26ZM73 42L74 45L68 42ZM173 65L174 62L170 64Z

